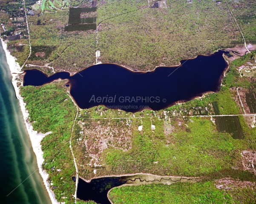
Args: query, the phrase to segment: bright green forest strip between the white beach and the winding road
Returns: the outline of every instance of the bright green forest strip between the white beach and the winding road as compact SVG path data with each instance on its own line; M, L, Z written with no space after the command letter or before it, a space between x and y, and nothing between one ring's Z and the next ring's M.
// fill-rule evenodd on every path
M48 181L55 197L60 202L74 202L75 175L69 139L76 108L66 92L63 82L34 87L21 86L21 96L29 111L29 122L37 132L52 133L41 142L43 169L49 174Z

